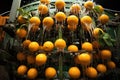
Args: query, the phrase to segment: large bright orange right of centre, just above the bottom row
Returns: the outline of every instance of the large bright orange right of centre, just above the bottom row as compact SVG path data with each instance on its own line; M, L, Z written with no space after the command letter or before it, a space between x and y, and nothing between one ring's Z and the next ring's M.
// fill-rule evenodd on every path
M87 66L91 62L91 56L88 53L81 53L78 55L78 59L81 65Z

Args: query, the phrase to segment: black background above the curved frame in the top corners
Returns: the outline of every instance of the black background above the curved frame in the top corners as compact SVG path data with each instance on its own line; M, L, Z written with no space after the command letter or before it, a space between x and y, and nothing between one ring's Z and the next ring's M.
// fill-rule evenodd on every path
M9 11L11 9L13 0L0 0L0 14ZM35 0L22 0L22 5ZM102 5L104 8L119 10L120 11L120 0L94 0L97 4Z

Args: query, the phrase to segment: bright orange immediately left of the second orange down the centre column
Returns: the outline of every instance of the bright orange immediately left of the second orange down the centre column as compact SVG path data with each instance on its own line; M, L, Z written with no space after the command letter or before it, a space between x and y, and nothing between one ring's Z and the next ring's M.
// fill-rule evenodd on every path
M43 26L46 27L47 29L50 29L54 24L54 20L52 17L45 17L43 19Z

